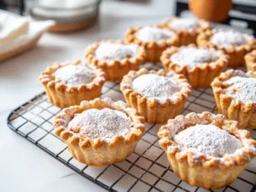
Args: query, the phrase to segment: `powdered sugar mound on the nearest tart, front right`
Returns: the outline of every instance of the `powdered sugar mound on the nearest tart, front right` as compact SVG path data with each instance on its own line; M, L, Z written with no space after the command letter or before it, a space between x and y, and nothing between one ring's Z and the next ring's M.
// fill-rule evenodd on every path
M173 139L180 150L192 151L195 155L223 157L242 147L240 139L211 124L188 127Z

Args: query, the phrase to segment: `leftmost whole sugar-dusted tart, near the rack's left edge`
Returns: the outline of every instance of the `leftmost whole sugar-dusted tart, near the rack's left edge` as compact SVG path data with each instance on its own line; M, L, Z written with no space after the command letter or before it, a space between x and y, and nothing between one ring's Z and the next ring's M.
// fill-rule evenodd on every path
M49 101L64 108L99 97L105 73L96 69L96 66L85 65L77 60L47 67L41 73L39 81L43 84Z

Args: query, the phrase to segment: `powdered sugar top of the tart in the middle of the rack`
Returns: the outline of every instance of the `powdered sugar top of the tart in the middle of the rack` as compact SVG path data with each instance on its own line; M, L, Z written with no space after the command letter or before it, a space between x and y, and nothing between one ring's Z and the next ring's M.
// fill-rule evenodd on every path
M132 82L132 89L147 98L157 99L159 102L165 102L166 99L172 97L172 94L180 90L175 79L156 74L138 76Z

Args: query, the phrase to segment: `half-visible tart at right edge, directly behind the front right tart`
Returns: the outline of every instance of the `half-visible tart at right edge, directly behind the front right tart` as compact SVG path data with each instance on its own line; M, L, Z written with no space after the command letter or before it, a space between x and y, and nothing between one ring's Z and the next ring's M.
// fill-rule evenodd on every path
M219 113L239 121L241 127L256 128L256 72L229 70L212 82Z

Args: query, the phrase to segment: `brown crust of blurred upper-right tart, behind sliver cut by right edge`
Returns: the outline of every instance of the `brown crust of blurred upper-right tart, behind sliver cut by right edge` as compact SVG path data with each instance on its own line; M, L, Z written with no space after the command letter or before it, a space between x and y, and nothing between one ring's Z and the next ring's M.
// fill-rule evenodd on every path
M255 48L256 40L247 40L246 45L234 46L230 45L227 47L219 47L212 42L210 42L210 38L213 34L215 34L217 30L207 30L205 32L201 32L201 34L197 37L196 42L198 47L200 48L215 48L218 50L224 51L225 54L230 56L230 61L228 66L230 67L239 67L241 65L245 65L244 56L251 52L253 48Z

